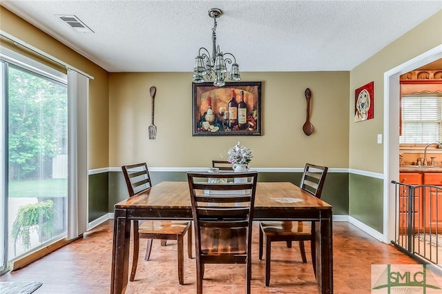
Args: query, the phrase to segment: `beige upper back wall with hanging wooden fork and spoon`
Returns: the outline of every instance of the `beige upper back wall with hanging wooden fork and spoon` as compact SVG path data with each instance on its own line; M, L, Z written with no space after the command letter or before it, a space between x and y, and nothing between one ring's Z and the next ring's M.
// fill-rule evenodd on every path
M348 167L349 72L243 72L243 81L262 81L260 137L192 137L191 79L190 72L109 74L109 166L205 167L240 140L253 149L252 167ZM155 140L147 135L151 86ZM302 133L305 88L312 92L309 137Z

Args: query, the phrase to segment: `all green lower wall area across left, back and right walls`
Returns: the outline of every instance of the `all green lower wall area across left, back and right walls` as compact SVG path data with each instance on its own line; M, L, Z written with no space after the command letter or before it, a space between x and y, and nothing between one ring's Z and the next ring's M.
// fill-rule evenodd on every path
M259 173L260 182L300 182L302 173ZM153 184L186 181L185 172L151 172ZM89 175L89 222L112 213L128 197L122 172ZM383 233L383 179L352 173L328 173L322 199L334 215L349 215Z

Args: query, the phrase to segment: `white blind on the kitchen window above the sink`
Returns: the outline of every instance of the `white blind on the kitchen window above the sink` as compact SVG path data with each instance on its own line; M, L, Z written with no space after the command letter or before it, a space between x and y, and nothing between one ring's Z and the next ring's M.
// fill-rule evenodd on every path
M428 144L441 141L442 97L403 96L402 135L399 143Z

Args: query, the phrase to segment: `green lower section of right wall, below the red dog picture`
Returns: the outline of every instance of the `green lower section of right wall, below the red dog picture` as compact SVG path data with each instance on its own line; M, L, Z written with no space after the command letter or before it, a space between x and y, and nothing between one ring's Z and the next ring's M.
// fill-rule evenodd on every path
M349 216L383 233L383 179L349 175Z

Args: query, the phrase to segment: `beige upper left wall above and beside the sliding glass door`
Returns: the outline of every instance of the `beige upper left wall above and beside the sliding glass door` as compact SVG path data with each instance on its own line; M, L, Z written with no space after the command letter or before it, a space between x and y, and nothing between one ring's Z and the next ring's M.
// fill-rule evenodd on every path
M108 72L3 6L0 6L0 28L94 77L89 94L89 168L108 167Z

